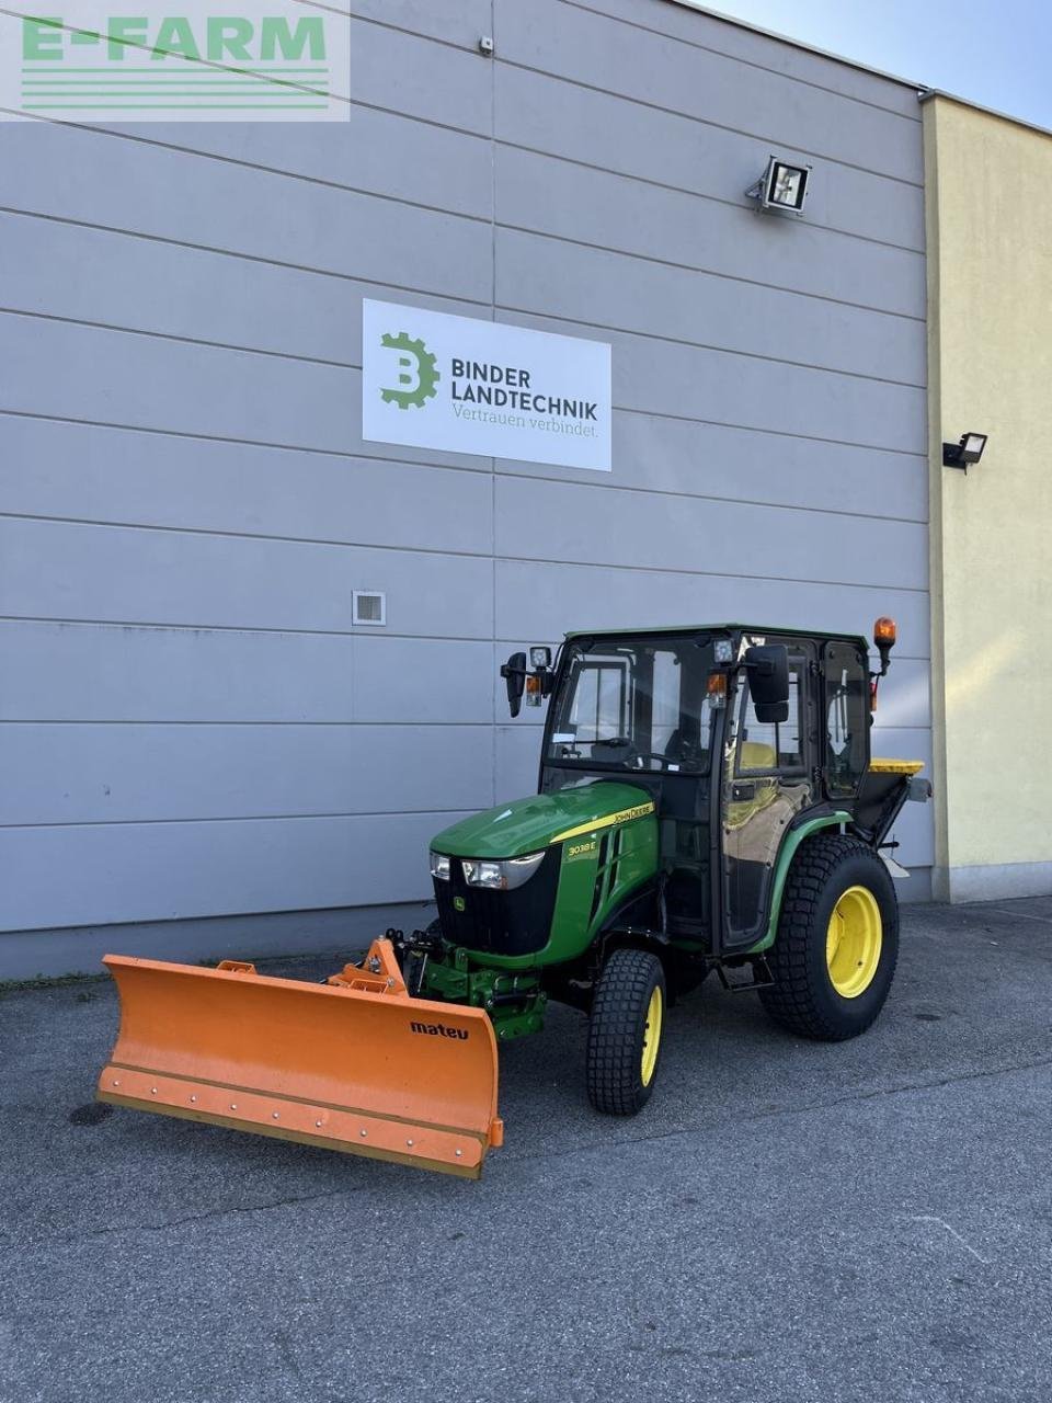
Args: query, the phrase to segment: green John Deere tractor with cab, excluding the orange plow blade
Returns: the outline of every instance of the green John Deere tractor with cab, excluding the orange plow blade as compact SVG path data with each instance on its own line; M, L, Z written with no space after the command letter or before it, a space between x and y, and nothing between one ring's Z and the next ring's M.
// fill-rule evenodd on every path
M548 999L588 1013L588 1096L638 1111L665 1010L715 971L783 1027L856 1037L895 974L882 850L922 762L875 760L861 637L745 624L571 633L513 654L512 716L548 700L539 793L438 833L438 920L396 947L412 996L485 1009L501 1041ZM734 974L731 974L734 971Z

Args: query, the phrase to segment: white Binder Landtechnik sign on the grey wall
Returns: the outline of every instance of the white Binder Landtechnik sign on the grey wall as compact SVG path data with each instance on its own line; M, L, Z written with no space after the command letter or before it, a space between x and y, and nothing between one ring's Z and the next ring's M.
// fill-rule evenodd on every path
M362 438L610 471L610 347L362 303Z

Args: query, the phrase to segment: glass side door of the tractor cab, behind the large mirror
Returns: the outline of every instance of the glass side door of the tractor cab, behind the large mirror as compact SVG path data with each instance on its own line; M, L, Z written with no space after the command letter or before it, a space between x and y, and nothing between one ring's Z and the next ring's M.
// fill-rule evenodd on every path
M788 720L756 720L742 671L728 699L721 793L724 947L748 948L767 930L774 863L785 829L814 800L815 647L764 636L746 643L788 647Z

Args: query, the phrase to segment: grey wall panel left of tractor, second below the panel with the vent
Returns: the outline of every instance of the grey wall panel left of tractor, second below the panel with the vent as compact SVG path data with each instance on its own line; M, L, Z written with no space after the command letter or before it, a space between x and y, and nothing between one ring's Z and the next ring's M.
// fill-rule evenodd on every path
M0 728L0 825L478 810L485 725Z

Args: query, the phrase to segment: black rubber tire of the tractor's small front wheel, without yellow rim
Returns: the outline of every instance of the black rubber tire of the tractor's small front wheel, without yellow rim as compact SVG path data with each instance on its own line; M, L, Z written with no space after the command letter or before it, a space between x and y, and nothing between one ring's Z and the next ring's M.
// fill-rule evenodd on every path
M656 1056L644 1080L647 1016L655 991L659 998ZM666 1009L661 960L645 950L613 950L599 975L588 1020L588 1099L598 1111L634 1115L651 1099L661 1068Z

